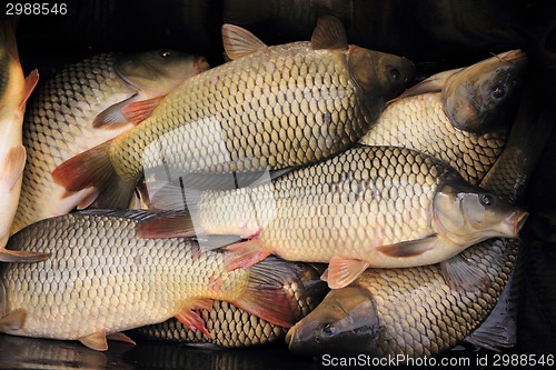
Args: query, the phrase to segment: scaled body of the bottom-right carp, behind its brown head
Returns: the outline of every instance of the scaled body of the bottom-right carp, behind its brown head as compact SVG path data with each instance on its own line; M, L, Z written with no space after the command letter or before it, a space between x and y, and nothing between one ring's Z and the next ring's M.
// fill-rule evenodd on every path
M376 300L381 330L376 344L358 348L377 357L430 357L455 347L496 304L512 273L517 246L517 241L497 239L461 252L488 274L488 287L476 291L449 289L436 266L365 271L356 283Z

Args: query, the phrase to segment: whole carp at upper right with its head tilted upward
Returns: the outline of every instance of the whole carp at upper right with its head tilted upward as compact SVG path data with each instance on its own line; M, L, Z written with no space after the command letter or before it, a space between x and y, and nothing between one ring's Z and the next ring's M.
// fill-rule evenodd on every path
M512 50L435 74L391 101L359 142L423 151L478 184L504 149L526 64Z

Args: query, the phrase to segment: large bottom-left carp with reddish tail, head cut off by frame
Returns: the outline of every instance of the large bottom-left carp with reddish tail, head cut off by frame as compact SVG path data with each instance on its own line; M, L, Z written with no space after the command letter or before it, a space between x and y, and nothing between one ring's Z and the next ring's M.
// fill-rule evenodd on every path
M136 224L152 213L83 211L33 223L9 248L50 252L39 263L1 271L0 331L79 340L96 350L120 332L175 317L210 337L196 312L225 300L271 323L290 327L298 306L284 290L302 266L279 259L227 272L224 253L190 239L147 240Z

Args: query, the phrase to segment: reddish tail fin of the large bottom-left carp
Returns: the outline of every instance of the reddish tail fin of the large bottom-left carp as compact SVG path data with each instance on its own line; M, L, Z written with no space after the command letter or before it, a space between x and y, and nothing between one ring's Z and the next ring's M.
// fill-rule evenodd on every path
M268 257L249 269L245 293L231 303L268 322L289 328L300 319L301 312L284 287L290 281L299 281L302 271L301 263Z

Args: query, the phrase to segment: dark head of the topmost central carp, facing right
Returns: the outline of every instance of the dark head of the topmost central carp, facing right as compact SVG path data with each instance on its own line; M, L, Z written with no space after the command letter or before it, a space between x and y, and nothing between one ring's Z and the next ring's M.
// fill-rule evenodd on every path
M365 97L381 102L399 96L415 77L409 59L356 46L349 47L348 69Z

